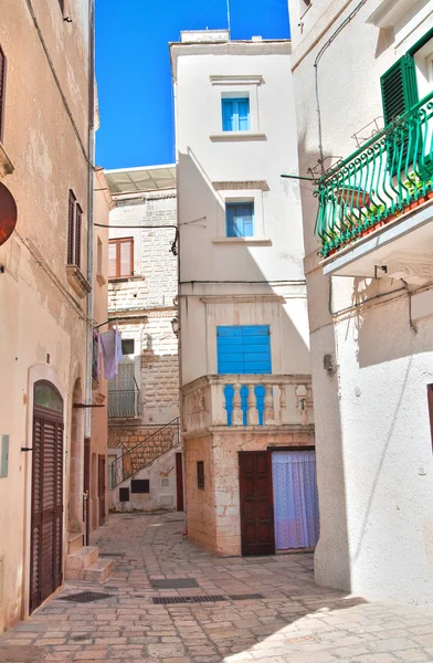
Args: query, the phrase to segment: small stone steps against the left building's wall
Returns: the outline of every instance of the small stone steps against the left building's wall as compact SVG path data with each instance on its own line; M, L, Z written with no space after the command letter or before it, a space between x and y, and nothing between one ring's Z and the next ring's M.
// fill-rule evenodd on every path
M83 546L83 534L73 534L68 541L65 580L104 582L113 571L114 560L99 559L96 546Z

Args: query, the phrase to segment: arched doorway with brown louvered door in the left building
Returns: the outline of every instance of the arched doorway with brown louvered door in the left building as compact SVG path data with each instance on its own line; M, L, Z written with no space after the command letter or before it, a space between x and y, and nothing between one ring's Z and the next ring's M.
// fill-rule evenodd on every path
M30 612L63 580L63 400L40 380L33 403Z

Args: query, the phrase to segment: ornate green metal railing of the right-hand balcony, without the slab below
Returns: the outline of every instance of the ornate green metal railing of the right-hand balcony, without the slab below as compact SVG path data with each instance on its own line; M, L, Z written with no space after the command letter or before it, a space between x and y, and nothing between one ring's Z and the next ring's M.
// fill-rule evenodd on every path
M433 198L433 92L318 181L324 257Z

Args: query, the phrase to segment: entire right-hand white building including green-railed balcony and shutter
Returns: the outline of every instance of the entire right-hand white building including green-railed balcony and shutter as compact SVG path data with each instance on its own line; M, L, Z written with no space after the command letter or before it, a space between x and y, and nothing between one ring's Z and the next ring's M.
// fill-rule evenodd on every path
M295 0L289 9L298 173L320 178L320 162L325 170L318 185L299 180L319 192L317 200L300 188L320 506L316 579L429 601L433 7Z

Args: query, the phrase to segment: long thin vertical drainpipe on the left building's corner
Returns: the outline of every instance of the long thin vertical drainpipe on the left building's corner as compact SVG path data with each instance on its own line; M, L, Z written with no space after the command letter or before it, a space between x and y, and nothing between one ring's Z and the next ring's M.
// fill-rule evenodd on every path
M94 189L94 161L95 161L95 0L88 3L88 138L87 138L87 281L92 285L87 294L87 319L93 319L93 189ZM93 357L93 326L87 323L86 339L86 383L85 403L92 403L92 357ZM91 438L92 408L84 410L84 438ZM88 496L87 496L88 499ZM86 541L88 544L88 541Z

